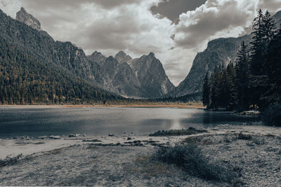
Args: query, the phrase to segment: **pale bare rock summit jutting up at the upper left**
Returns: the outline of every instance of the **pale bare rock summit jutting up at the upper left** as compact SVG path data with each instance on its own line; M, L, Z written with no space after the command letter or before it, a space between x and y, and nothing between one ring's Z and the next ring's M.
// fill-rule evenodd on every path
M26 25L32 27L33 29L37 29L38 31L42 30L39 20L34 18L33 15L27 13L27 11L25 11L25 8L20 8L20 11L18 11L15 19L25 23Z

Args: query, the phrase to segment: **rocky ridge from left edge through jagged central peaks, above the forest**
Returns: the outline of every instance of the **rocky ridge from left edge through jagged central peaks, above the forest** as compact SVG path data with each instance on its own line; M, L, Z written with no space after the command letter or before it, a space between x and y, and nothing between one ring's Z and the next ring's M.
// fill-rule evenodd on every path
M70 42L54 41L24 8L17 13L17 19L13 20L0 11L0 36L40 62L55 64L65 74L125 97L161 97L174 88L162 63L154 55L150 58L143 55L141 61L136 60L137 64L147 64L145 68L133 68L138 67L136 64L131 67L129 61L134 60L123 51L115 57L105 57L97 51L86 56L81 48Z

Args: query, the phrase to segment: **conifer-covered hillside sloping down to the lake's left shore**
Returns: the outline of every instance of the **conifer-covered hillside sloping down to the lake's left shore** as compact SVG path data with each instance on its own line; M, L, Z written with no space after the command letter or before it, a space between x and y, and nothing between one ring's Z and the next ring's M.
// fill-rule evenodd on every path
M95 104L123 99L44 63L0 36L1 104Z

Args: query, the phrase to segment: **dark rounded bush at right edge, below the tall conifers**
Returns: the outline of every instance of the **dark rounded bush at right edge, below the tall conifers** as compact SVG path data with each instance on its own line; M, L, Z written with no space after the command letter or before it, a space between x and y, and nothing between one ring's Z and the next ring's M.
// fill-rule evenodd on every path
M266 125L281 126L281 104L270 104L268 109L263 111L262 120Z

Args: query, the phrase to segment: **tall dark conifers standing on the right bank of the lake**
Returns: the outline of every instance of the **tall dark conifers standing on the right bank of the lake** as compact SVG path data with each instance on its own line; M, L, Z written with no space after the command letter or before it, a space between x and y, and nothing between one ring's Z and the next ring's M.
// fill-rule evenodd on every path
M281 110L281 25L259 10L251 42L242 41L235 62L204 78L202 102L208 109ZM275 120L280 120L280 116Z

